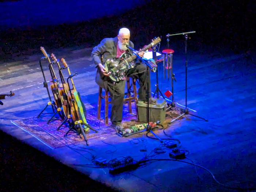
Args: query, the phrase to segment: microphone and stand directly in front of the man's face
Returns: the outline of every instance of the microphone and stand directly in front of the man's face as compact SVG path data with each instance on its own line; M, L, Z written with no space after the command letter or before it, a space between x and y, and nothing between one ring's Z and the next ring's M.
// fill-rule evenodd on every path
M127 46L128 48L130 48L132 51L133 51L133 54L134 55L136 55L139 59L141 59L142 61L143 61L143 59L138 55L138 54L136 54L136 50L134 50L133 48L131 48L131 47L129 47L129 46ZM145 62L146 63L146 62ZM147 63L146 63L147 64ZM147 64L147 74L148 75L150 75L150 70L149 70L149 68L150 68L150 66ZM150 87L149 87L149 80L150 80L150 78L148 78L147 79L147 128L146 128L146 130L147 130L147 134L150 132L150 133L152 133L161 143L163 142L163 140L160 138L160 137L158 137L152 130L152 128L151 128L151 125L149 124L149 93L150 93Z

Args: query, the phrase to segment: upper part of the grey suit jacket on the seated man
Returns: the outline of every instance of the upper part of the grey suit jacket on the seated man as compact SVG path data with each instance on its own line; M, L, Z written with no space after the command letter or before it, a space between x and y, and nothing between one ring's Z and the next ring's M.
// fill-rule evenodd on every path
M98 46L93 48L91 56L93 57L93 62L96 66L98 66L99 63L104 64L106 60L110 58L116 58L117 42L117 37L105 38L98 44ZM134 48L134 44L131 41L129 41L129 46ZM130 49L129 52L132 54ZM101 60L101 56L103 60Z

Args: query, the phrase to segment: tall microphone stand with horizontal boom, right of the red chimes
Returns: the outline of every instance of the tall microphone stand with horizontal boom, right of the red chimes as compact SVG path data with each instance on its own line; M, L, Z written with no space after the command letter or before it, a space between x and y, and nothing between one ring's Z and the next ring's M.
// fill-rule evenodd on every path
M180 117L184 116L184 115L192 115L194 117L197 117L197 118L200 118L200 119L203 119L204 121L208 121L207 119L204 119L202 117L199 117L197 115L194 115L194 114L191 114L189 111L188 111L188 107L187 107L187 83L188 83L188 55L187 55L187 47L188 47L188 39L190 39L188 37L188 34L191 34L191 33L195 33L195 31L191 31L191 32L186 32L186 33L180 33L180 34L172 34L172 35L166 35L167 37L169 36L174 36L174 35L184 35L185 37L185 109L182 109L184 110L183 114L181 114L180 116L176 117L175 119L173 119L171 122L169 122L169 124L173 123L174 121L176 121L177 119L179 119Z

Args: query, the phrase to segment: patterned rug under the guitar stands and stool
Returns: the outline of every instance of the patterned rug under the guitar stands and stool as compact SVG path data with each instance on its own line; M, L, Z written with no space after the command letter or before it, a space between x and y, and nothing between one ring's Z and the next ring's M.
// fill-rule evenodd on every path
M86 138L88 139L89 143L90 140L93 139L102 139L107 137L109 134L115 134L116 130L111 127L111 122L109 119L109 125L105 125L104 119L97 119L97 104L92 104L91 109L87 110L87 123L92 126L94 129L98 130L98 133L95 133L93 130L89 130L86 132ZM180 114L180 111L172 110L167 114L166 121L170 121L171 119L177 117ZM168 112L167 112L168 113ZM109 114L110 114L110 107L109 107ZM170 116L171 115L171 116ZM104 111L101 111L101 118L104 117ZM75 132L70 132L65 137L65 134L69 130L68 124L64 124L59 130L57 128L61 124L61 120L54 120L51 121L49 124L46 122L50 119L50 115L42 115L41 118L31 117L22 120L15 120L13 121L17 126L29 132L34 137L38 138L41 142L48 145L50 148L60 148L67 145L77 144L79 142L85 141L80 138L79 134ZM128 111L128 105L124 105L123 110L123 126L124 128L129 128L134 126L135 124L140 124L137 122L136 110L135 105L132 103L132 113Z

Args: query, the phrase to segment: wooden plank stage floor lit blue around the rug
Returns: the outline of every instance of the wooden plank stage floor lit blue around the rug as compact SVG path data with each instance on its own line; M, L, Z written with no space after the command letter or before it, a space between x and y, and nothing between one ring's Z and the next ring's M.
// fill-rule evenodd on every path
M76 88L87 111L95 110L98 86L95 83L95 66L91 62L91 49L46 51L48 54L53 52L58 59L64 57L71 72L78 73L74 78ZM1 130L120 191L230 191L216 184L211 175L200 168L196 170L204 181L198 179L195 167L184 162L148 162L142 168L117 176L110 175L108 168L84 166L92 164L92 156L102 157L107 161L123 156L131 156L137 161L142 159L161 145L158 140L146 137L146 132L122 138L109 128L109 132L103 136L89 138L89 146L79 141L75 145L69 143L68 146L63 144L54 147L45 143L38 135L17 126L17 122L39 114L48 102L38 63L41 56L31 55L13 58L10 62L0 62L0 94L8 94L11 90L15 93L13 97L2 100ZM174 82L174 95L177 106L185 105L184 63L182 54L174 54L173 70L177 79ZM43 65L46 78L50 79L48 63L44 61ZM193 114L206 118L209 122L187 115L165 129L166 134L181 141L181 149L189 151L189 160L184 161L192 160L206 167L220 183L231 187L256 187L256 183L253 183L256 181L255 73L255 64L246 60L244 55L191 53L188 63L188 107ZM170 81L163 79L162 74L160 67L159 87L165 93L167 89L171 90L171 86ZM155 73L152 73L151 82L154 92ZM96 119L93 121L96 122ZM95 127L98 126L97 123L101 123L95 122ZM168 138L163 130L155 133L161 138ZM170 159L169 152L166 150L153 158Z

